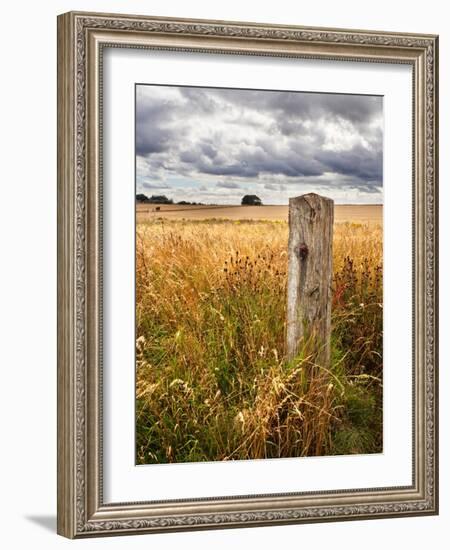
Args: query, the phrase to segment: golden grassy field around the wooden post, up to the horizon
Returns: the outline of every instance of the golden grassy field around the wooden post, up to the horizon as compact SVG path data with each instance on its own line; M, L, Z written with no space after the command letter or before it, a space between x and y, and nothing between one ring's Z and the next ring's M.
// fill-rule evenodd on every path
M287 207L154 208L137 207L137 463L381 452L382 207L335 210L329 369L307 344L285 359Z

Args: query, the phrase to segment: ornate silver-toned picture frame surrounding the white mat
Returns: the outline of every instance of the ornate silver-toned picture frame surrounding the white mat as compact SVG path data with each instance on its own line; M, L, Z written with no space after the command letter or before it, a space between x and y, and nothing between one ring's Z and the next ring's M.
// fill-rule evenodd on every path
M155 499L149 489L144 501L105 501L102 93L107 48L411 67L412 182L405 197L412 201L411 484L172 500ZM59 534L82 538L438 513L437 119L437 36L77 12L58 17Z

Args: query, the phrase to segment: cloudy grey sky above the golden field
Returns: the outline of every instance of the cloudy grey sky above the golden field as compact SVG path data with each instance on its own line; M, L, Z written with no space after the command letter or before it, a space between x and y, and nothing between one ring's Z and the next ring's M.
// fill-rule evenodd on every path
M382 203L382 109L378 96L138 85L137 193Z

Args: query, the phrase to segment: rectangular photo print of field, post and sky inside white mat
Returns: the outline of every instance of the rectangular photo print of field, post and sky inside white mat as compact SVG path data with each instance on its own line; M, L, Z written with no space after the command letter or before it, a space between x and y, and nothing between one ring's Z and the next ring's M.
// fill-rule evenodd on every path
M137 84L136 463L383 451L383 98Z

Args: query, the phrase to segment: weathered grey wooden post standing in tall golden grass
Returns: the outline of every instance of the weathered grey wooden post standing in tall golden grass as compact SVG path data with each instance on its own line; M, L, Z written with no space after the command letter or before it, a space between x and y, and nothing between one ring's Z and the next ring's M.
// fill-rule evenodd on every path
M286 352L302 341L328 367L331 336L334 202L315 193L289 199Z

